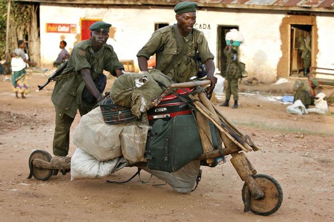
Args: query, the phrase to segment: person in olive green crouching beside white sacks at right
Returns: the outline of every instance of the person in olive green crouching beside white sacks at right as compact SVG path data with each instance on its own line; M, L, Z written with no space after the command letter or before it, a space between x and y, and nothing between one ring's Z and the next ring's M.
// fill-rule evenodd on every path
M317 80L299 80L293 86L293 90L296 91L293 102L301 100L306 109L309 109L309 105L314 105L315 89L318 86Z

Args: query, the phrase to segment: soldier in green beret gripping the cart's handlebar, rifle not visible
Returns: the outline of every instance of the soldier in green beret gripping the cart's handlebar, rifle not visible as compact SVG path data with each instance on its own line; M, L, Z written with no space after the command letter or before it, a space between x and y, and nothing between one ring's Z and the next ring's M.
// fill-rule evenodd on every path
M193 28L197 4L184 1L174 7L177 24L156 30L137 53L141 71L147 72L147 60L156 54L156 69L177 83L188 82L195 76L201 63L205 64L207 79L215 87L214 55L210 52L203 32ZM199 59L198 59L199 58ZM199 61L200 62L199 62Z

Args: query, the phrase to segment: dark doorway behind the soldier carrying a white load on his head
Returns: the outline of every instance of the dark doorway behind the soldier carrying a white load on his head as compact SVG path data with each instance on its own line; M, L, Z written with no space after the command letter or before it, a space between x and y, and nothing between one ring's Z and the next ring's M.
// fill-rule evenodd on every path
M224 48L226 46L225 36L231 29L238 29L238 26L223 26L217 27L217 68L219 68L221 75L225 76L226 72L226 56L224 55Z

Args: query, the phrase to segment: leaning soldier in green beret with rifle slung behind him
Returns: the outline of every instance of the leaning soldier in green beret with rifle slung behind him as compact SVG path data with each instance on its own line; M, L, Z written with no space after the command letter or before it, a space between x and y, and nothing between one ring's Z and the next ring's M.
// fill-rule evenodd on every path
M98 21L93 23L91 38L81 41L73 48L67 67L56 78L51 100L55 106L56 124L53 137L53 154L66 156L69 152L70 128L77 110L80 115L91 111L102 98L95 80L103 75L103 70L119 77L124 69L113 46L106 44L111 24ZM105 88L103 86L102 92ZM83 97L87 91L94 101Z

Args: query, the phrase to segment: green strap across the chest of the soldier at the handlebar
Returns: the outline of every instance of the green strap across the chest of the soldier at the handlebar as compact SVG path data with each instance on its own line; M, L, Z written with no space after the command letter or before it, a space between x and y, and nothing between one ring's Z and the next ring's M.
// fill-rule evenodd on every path
M187 36L186 42L185 42L182 38L182 35L179 31L179 28L177 27L177 24L174 24L173 28L174 28L174 34L175 34L177 47L181 48L181 50L179 51L179 53L177 55L173 56L173 59L172 59L171 63L164 70L164 74L166 74L166 75L168 75L169 71L175 66L175 64L178 61L180 61L182 56L185 54L185 52L187 50L187 45L188 45L189 41L191 41L191 38L192 38L192 33L189 33L188 36Z

